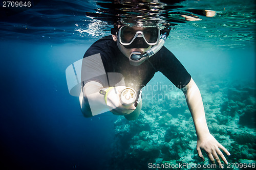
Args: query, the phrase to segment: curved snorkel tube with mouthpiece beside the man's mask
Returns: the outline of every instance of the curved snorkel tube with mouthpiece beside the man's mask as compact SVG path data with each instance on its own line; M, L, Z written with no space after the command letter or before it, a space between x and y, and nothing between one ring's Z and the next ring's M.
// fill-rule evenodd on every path
M152 57L154 54L156 54L163 46L167 36L169 35L170 28L165 28L162 30L163 34L159 38L159 41L156 45L154 45L150 50L147 50L145 53L141 54L139 52L133 52L130 55L130 64L137 66L143 63L148 58Z

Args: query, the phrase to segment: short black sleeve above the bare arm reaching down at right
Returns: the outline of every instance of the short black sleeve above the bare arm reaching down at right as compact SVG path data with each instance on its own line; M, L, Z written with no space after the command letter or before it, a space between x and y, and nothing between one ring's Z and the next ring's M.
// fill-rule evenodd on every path
M163 46L158 53L156 62L158 70L176 87L185 87L191 79L185 67L166 47Z

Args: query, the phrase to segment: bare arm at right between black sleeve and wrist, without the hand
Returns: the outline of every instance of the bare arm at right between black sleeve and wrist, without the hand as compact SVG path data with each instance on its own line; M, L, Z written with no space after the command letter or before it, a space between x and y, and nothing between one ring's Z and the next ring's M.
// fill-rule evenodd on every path
M182 90L186 95L187 106L193 117L197 137L200 138L205 134L209 134L201 93L194 80L191 78L190 82Z

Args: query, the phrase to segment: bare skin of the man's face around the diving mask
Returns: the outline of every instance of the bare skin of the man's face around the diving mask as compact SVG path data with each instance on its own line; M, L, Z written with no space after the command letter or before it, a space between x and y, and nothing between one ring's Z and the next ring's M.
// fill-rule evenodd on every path
M136 31L142 31L143 28L141 27L133 27L134 30ZM117 41L117 46L119 48L119 50L123 53L123 55L127 58L130 58L130 55L132 52L140 52L141 54L143 54L144 52L146 52L147 50L149 50L152 45L148 46L147 48L125 48L122 44L120 44L119 40L117 39L116 35L112 35L113 40Z

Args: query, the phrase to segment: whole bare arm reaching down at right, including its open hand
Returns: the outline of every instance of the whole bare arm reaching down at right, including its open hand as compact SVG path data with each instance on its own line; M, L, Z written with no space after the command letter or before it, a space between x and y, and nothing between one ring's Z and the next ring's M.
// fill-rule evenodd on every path
M191 78L190 82L182 89L186 95L187 106L193 117L194 125L197 133L197 152L199 157L204 161L201 149L204 150L212 163L215 160L221 165L222 160L227 163L225 156L222 154L220 149L227 155L230 153L212 136L209 132L206 124L204 106L199 88L197 87L194 80Z

